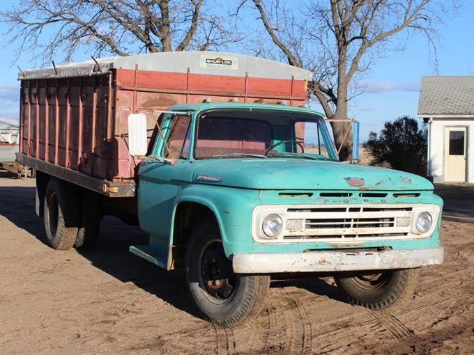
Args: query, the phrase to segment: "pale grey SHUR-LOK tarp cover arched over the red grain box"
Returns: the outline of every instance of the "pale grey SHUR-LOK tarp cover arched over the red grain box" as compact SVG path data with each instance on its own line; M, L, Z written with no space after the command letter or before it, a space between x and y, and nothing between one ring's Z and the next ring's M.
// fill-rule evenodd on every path
M19 80L55 79L103 75L113 68L160 72L231 75L272 79L312 80L312 72L264 58L223 52L162 52L114 56L89 61L65 63L56 67L22 70Z

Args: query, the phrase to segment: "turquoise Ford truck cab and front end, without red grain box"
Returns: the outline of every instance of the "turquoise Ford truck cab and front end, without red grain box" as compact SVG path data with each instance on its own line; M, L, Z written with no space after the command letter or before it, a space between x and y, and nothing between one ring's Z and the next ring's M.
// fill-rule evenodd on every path
M129 116L135 156L148 148L144 120ZM272 274L330 274L351 303L379 309L410 297L420 267L443 260L431 182L339 162L321 113L181 104L158 131L137 185L150 242L130 251L184 266L195 305L216 324L257 314Z

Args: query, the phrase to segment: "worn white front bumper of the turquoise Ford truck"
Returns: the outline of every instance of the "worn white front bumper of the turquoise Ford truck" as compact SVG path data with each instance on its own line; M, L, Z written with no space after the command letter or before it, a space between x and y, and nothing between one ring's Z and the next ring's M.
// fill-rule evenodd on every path
M409 269L443 262L443 248L390 251L309 251L306 253L236 253L238 274L277 272Z

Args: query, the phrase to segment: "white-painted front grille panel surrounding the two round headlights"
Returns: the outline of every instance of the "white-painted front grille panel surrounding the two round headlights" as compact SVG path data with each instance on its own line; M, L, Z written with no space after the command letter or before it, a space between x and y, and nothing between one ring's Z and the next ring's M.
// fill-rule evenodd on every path
M432 230L422 235L411 230L422 210L428 210L435 221L438 218L436 205L262 205L254 209L252 237L263 243L422 238ZM261 232L261 223L270 213L283 221L283 230L275 238Z

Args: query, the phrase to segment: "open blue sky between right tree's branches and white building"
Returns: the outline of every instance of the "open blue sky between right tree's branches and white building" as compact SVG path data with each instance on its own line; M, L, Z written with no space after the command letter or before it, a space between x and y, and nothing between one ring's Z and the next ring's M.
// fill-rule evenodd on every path
M379 132L387 120L417 117L422 75L474 75L474 1L465 1L455 16L438 24L438 72L432 64L427 40L411 36L404 52L388 52L376 61L366 81L365 94L349 105L349 115L360 120L361 140L369 131Z

